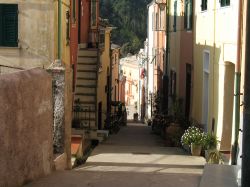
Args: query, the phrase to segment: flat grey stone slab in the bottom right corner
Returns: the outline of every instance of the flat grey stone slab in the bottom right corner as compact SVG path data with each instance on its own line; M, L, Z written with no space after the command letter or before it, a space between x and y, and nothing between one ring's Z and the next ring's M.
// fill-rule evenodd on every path
M239 167L221 164L206 164L200 187L238 187Z

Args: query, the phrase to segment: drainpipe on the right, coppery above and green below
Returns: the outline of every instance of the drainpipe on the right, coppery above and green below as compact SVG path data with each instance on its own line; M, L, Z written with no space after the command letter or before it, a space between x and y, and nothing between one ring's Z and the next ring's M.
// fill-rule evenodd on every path
M234 123L235 128L233 129L234 139L232 140L232 165L237 164L237 152L238 152L238 139L239 139L239 128L240 128L240 83L241 83L241 40L242 40L242 1L239 1L238 10L238 38L237 38L237 62L235 69L235 110L234 110Z

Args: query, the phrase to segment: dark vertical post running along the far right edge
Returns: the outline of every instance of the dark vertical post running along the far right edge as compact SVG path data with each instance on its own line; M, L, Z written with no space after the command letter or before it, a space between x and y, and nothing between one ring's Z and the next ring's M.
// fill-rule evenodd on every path
M241 186L250 186L250 3L247 3L246 11L246 51L245 51L245 82L244 82L244 110L243 110L243 147L242 147L242 179Z

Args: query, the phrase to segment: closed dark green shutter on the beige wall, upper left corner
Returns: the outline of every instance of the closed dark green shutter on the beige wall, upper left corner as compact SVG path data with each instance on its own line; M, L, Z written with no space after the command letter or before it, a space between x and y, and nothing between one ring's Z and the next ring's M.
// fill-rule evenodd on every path
M17 4L0 4L0 46L18 46Z

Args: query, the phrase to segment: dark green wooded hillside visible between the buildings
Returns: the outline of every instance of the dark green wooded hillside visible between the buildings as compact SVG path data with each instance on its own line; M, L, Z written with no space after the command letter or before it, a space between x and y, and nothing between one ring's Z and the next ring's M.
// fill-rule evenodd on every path
M112 42L119 44L121 53L135 54L143 47L147 36L147 4L151 0L101 0L101 17L117 27Z

